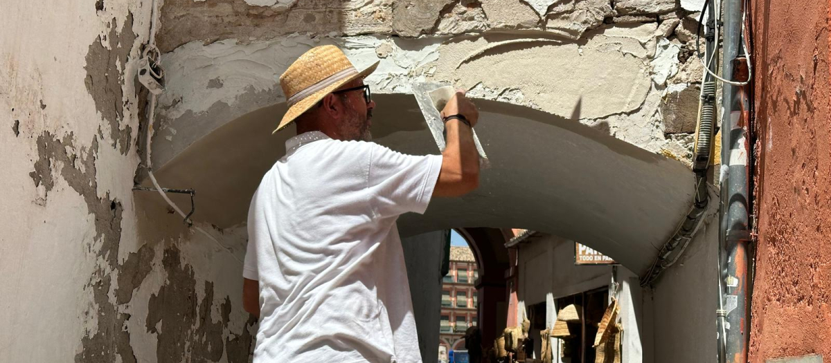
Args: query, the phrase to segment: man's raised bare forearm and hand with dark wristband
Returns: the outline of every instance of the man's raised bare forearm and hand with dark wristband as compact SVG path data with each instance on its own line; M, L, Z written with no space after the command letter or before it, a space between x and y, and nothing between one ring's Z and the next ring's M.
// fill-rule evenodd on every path
M458 119L445 123L447 146L441 153L441 171L433 196L464 196L479 186L479 152L472 128L479 120L479 110L465 97L465 91L457 91L441 111L442 118L454 114L464 115L470 127Z

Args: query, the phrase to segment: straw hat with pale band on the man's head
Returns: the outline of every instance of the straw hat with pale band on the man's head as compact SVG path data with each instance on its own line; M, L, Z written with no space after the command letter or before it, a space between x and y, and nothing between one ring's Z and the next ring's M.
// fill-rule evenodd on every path
M288 111L274 133L286 128L327 94L372 73L378 63L358 72L337 46L316 46L303 53L280 75Z

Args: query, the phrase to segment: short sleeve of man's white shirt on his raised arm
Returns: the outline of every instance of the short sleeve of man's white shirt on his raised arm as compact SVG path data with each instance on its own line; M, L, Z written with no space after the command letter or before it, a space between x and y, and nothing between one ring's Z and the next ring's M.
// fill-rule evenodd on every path
M441 155L414 156L376 145L369 163L372 211L377 217L424 214L441 171Z

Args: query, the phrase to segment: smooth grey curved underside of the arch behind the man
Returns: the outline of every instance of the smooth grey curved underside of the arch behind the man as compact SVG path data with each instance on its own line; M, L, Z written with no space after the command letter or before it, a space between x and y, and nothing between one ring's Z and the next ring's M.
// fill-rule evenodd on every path
M377 143L438 153L411 95L374 98ZM637 273L647 269L690 206L689 169L575 120L496 101L477 104L477 132L491 164L479 189L463 198L436 198L425 215L401 216L402 236L525 228L580 241ZM284 109L278 104L224 123L160 167L157 177L196 189L195 220L219 227L243 223L260 178L294 134L271 134Z

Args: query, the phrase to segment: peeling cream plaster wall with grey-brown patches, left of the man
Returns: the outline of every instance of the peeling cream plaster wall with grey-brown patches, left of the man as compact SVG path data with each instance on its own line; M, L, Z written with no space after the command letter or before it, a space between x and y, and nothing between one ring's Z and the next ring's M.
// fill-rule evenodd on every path
M150 3L2 6L0 361L248 361L241 266L131 190Z

